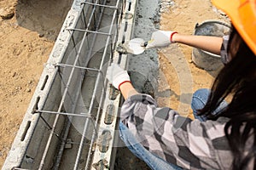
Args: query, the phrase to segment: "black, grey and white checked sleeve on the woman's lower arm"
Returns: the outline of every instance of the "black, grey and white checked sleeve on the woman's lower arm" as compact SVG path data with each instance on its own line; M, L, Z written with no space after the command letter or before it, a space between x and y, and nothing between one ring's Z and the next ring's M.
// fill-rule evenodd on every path
M186 169L224 169L231 164L225 119L192 121L170 108L158 108L147 94L127 99L120 116L138 142L165 161ZM219 155L226 156L224 162Z

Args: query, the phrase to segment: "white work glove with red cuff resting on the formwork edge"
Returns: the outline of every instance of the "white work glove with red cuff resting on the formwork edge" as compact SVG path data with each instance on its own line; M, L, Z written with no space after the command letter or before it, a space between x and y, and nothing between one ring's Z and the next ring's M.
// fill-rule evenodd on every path
M127 71L124 71L119 65L114 63L108 66L106 77L108 81L112 83L113 87L117 89L119 89L119 86L124 82L131 82Z

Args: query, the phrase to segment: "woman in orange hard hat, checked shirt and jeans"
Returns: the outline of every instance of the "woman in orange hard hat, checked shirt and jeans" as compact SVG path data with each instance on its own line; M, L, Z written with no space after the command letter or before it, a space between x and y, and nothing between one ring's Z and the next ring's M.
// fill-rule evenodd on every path
M256 154L256 1L213 0L233 24L228 43L218 37L183 36L156 31L148 48L181 42L221 54L226 65L212 90L193 95L195 120L158 108L138 94L118 65L108 80L125 98L119 125L127 147L152 169L254 169ZM224 99L231 95L230 104Z

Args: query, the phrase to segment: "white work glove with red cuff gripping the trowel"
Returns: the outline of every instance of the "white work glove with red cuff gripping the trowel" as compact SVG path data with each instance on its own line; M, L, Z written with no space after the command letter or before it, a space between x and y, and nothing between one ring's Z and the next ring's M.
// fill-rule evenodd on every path
M172 36L174 34L177 34L177 31L154 31L151 37L151 40L148 41L148 45L146 48L163 48L171 43L174 43L172 41Z

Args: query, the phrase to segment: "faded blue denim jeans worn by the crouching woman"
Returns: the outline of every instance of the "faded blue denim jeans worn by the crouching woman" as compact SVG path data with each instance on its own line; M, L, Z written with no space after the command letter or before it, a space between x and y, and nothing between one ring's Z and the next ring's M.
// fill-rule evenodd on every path
M199 110L206 105L208 96L210 94L210 90L206 88L199 89L193 94L191 107L193 110L193 114L196 119L199 119L201 122L206 121L207 118L204 116L196 116L196 110ZM224 101L216 110L218 112L219 110L223 109L227 103ZM177 165L168 163L167 161L164 161L158 156L155 156L150 151L146 150L142 144L140 144L137 139L133 136L133 134L129 131L129 129L122 123L119 123L119 136L120 139L122 139L131 152L137 156L138 158L142 159L148 164L148 167L151 169L157 169L157 170L177 170L182 169L181 167L177 167Z

